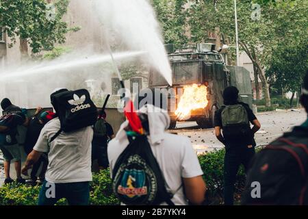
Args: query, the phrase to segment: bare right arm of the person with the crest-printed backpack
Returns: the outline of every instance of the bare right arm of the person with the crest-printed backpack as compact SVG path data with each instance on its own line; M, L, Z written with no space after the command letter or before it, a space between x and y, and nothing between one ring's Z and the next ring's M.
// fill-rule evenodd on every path
M193 205L201 205L205 201L207 187L202 176L183 178L185 195Z

